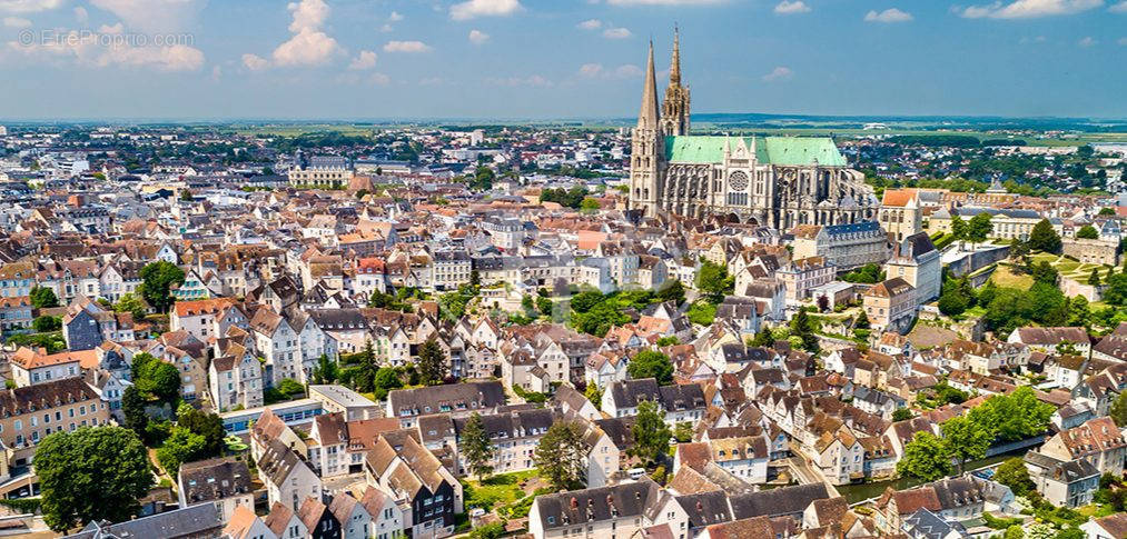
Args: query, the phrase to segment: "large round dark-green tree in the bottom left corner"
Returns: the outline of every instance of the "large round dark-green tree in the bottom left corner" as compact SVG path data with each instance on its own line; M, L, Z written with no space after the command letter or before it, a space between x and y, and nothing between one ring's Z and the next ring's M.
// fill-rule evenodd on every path
M47 435L35 453L35 471L43 491L43 519L57 532L94 520L128 520L152 485L144 446L121 426L83 426Z

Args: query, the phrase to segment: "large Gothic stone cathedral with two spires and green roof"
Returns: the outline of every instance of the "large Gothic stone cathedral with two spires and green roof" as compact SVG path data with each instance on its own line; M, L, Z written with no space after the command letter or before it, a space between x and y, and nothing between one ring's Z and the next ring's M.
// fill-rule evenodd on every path
M654 44L631 140L630 208L754 223L780 230L871 221L879 203L861 172L826 137L689 134L680 36L658 105Z

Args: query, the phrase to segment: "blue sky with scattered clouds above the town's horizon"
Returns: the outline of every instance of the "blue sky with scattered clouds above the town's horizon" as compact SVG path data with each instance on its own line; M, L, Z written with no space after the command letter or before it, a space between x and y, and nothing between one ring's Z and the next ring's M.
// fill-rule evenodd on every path
M694 113L1127 117L1127 0L0 0L0 119L627 117L674 23Z

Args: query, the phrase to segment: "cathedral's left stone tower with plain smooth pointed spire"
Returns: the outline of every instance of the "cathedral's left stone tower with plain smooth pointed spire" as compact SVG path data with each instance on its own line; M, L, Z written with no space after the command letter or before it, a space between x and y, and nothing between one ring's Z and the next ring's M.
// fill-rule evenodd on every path
M630 208L641 209L647 217L657 214L660 196L662 162L665 160L665 134L657 109L657 77L654 73L654 42L649 43L646 86L641 92L641 110L630 145Z

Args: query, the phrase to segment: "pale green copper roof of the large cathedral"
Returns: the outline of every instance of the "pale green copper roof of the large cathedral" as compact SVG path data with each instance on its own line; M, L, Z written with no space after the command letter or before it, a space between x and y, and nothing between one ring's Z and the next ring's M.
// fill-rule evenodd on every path
M751 147L752 137L727 137L685 135L665 137L665 159L672 163L720 163L724 161L724 144L733 147L738 141ZM801 165L818 164L845 167L845 158L837 151L832 138L769 136L755 138L755 156L761 163Z

